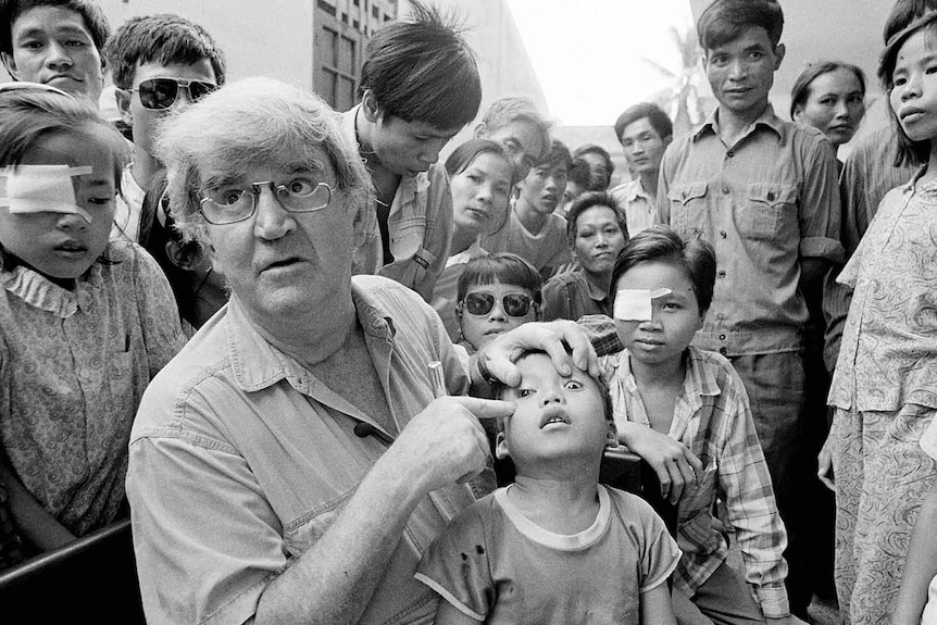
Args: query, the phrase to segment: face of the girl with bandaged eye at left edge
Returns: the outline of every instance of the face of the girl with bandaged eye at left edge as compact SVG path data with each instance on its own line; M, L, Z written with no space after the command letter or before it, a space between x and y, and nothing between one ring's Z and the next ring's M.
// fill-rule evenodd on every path
M0 208L0 243L36 271L53 278L77 278L101 255L114 221L117 193L114 153L102 129L57 133L36 140L23 165L91 166L72 177L75 200L91 222L75 213L15 213Z

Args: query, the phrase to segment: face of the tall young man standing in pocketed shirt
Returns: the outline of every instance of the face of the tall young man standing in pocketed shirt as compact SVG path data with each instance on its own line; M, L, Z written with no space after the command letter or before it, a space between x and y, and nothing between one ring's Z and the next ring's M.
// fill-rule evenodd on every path
M720 107L739 116L760 113L782 59L784 47L773 46L762 26L749 26L732 41L707 50L707 78Z

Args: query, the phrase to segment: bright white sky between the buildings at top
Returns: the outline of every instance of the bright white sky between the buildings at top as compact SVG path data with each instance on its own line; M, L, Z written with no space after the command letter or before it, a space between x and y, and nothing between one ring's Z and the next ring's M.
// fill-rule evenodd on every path
M508 0L544 89L563 125L610 125L677 73L669 28L692 25L689 0Z

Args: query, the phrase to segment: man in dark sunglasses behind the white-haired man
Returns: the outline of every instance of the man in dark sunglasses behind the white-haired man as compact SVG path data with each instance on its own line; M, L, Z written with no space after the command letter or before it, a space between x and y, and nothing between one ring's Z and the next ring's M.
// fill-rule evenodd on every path
M108 39L105 54L117 110L134 141L113 236L146 245L154 215L143 214L143 196L162 170L153 155L157 125L224 85L225 59L204 28L172 14L130 17Z

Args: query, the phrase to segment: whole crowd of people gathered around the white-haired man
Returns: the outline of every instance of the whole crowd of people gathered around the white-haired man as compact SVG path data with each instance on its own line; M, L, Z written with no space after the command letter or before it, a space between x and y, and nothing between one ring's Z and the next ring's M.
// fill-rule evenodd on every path
M712 0L715 110L625 110L615 187L411 4L337 112L0 0L0 568L129 517L150 623L937 623L937 2L852 141L862 70L783 120L782 7Z

